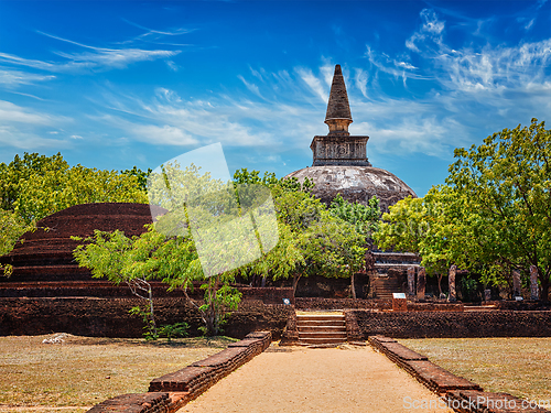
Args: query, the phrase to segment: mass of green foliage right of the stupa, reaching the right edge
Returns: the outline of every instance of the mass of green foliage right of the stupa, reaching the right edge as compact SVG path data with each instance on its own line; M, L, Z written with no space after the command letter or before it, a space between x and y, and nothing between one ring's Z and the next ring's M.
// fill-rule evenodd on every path
M404 199L383 215L380 248L419 252L423 265L444 272L455 263L488 284L536 265L547 300L551 278L551 131L504 129L483 144L455 150L446 185ZM527 276L527 275L526 275Z

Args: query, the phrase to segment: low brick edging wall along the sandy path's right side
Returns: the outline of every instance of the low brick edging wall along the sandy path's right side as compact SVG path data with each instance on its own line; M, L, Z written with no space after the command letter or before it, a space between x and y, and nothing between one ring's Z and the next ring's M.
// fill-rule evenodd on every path
M485 392L478 384L429 361L395 339L370 336L369 344L390 360L408 371L431 391L443 396L445 403L461 413L543 413L545 409L531 406L526 401L507 393ZM512 409L511 409L512 407Z

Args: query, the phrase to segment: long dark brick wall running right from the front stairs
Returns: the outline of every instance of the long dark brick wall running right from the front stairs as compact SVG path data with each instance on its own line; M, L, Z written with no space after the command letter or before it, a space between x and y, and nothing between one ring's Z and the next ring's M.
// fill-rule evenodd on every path
M347 323L357 323L364 339L385 335L395 338L461 337L551 337L549 311L490 312L374 312L345 309L354 313Z

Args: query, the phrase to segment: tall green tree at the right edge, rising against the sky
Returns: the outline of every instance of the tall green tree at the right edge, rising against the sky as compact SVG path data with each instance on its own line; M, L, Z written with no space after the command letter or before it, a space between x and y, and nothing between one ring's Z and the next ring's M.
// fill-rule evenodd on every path
M483 273L496 268L525 273L538 269L543 300L551 278L551 131L532 119L504 129L469 150L456 149L457 161L446 180L468 200L468 220L462 226L472 268ZM465 237L467 236L467 237Z

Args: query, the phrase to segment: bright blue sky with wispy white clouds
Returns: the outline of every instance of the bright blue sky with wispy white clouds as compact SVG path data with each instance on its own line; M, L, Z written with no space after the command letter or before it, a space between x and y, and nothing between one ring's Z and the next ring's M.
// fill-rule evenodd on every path
M335 64L350 133L423 196L454 148L551 122L551 0L0 1L0 162L147 170L222 142L231 172L284 176L327 133Z

